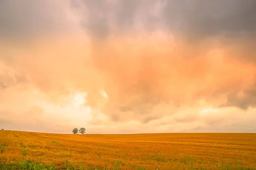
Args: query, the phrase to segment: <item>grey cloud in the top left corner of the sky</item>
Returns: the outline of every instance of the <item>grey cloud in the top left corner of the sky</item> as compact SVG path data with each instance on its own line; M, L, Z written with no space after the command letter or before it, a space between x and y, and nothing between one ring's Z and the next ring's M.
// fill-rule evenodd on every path
M2 0L0 37L33 37L70 29L66 9L49 0Z

